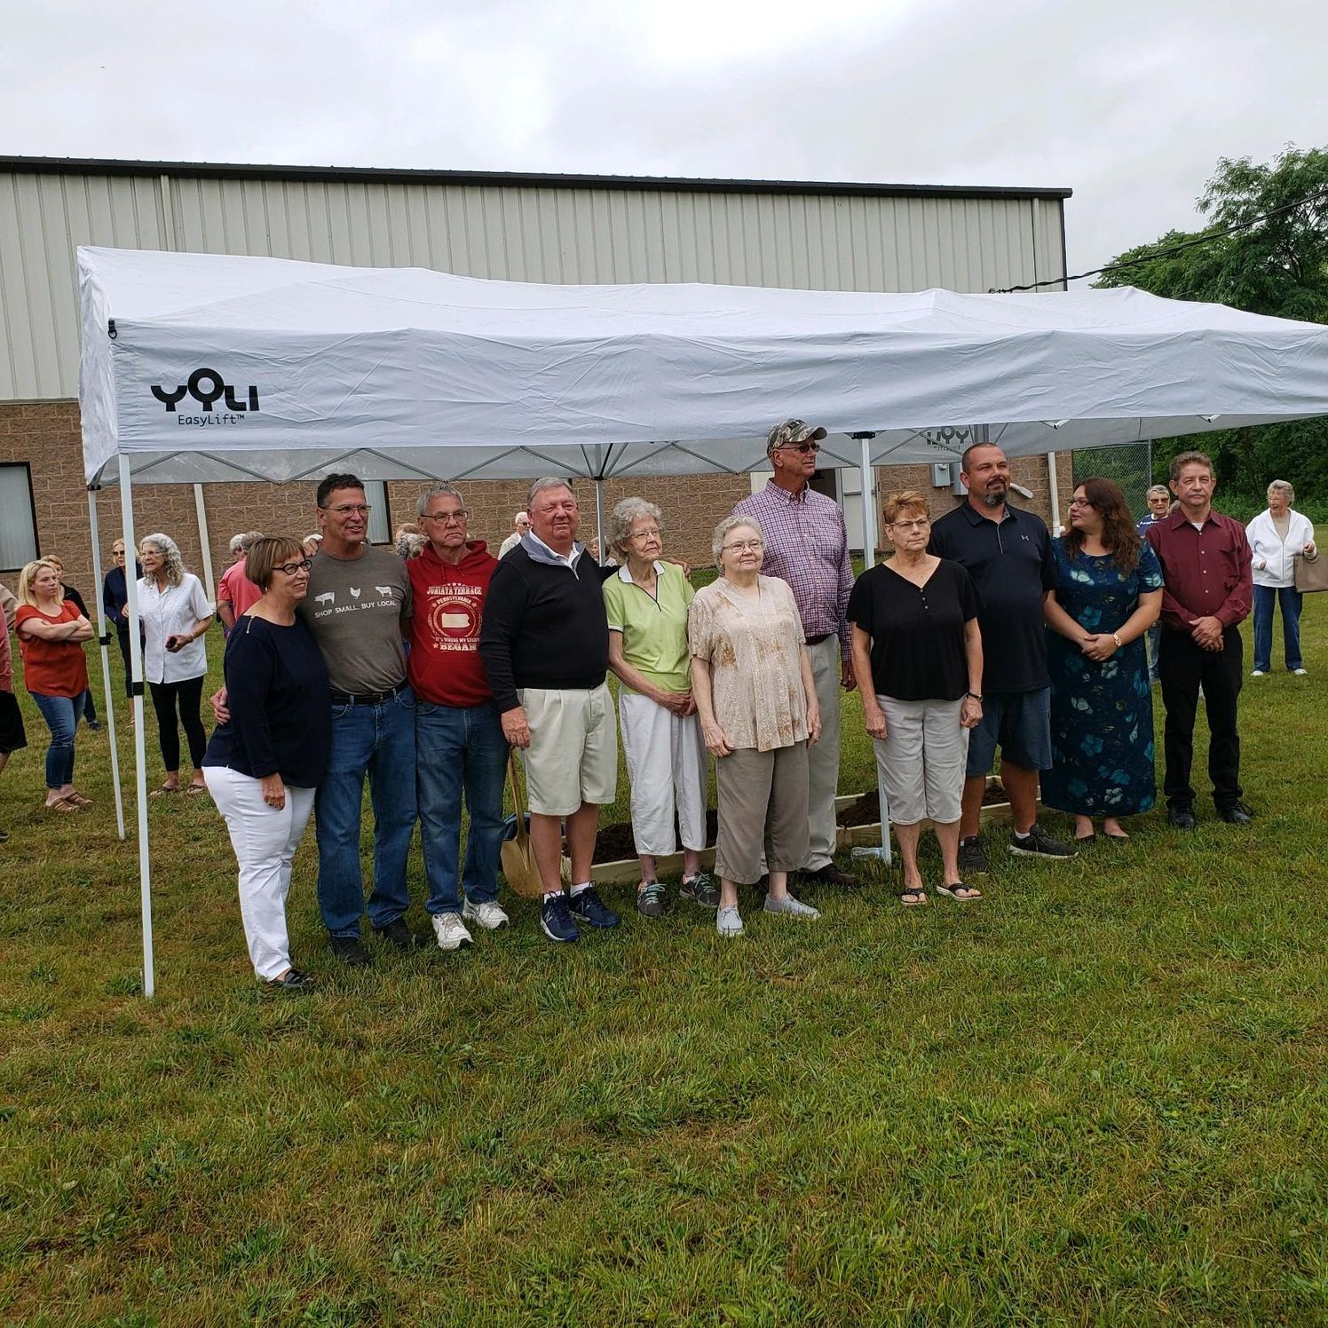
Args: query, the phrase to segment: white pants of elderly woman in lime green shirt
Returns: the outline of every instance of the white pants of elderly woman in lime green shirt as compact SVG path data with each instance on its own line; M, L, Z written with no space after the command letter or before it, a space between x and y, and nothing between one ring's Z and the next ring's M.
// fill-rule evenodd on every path
M632 839L637 854L663 857L677 851L673 817L684 849L705 847L705 802L709 766L701 721L681 718L648 696L618 697L623 754L632 781Z

